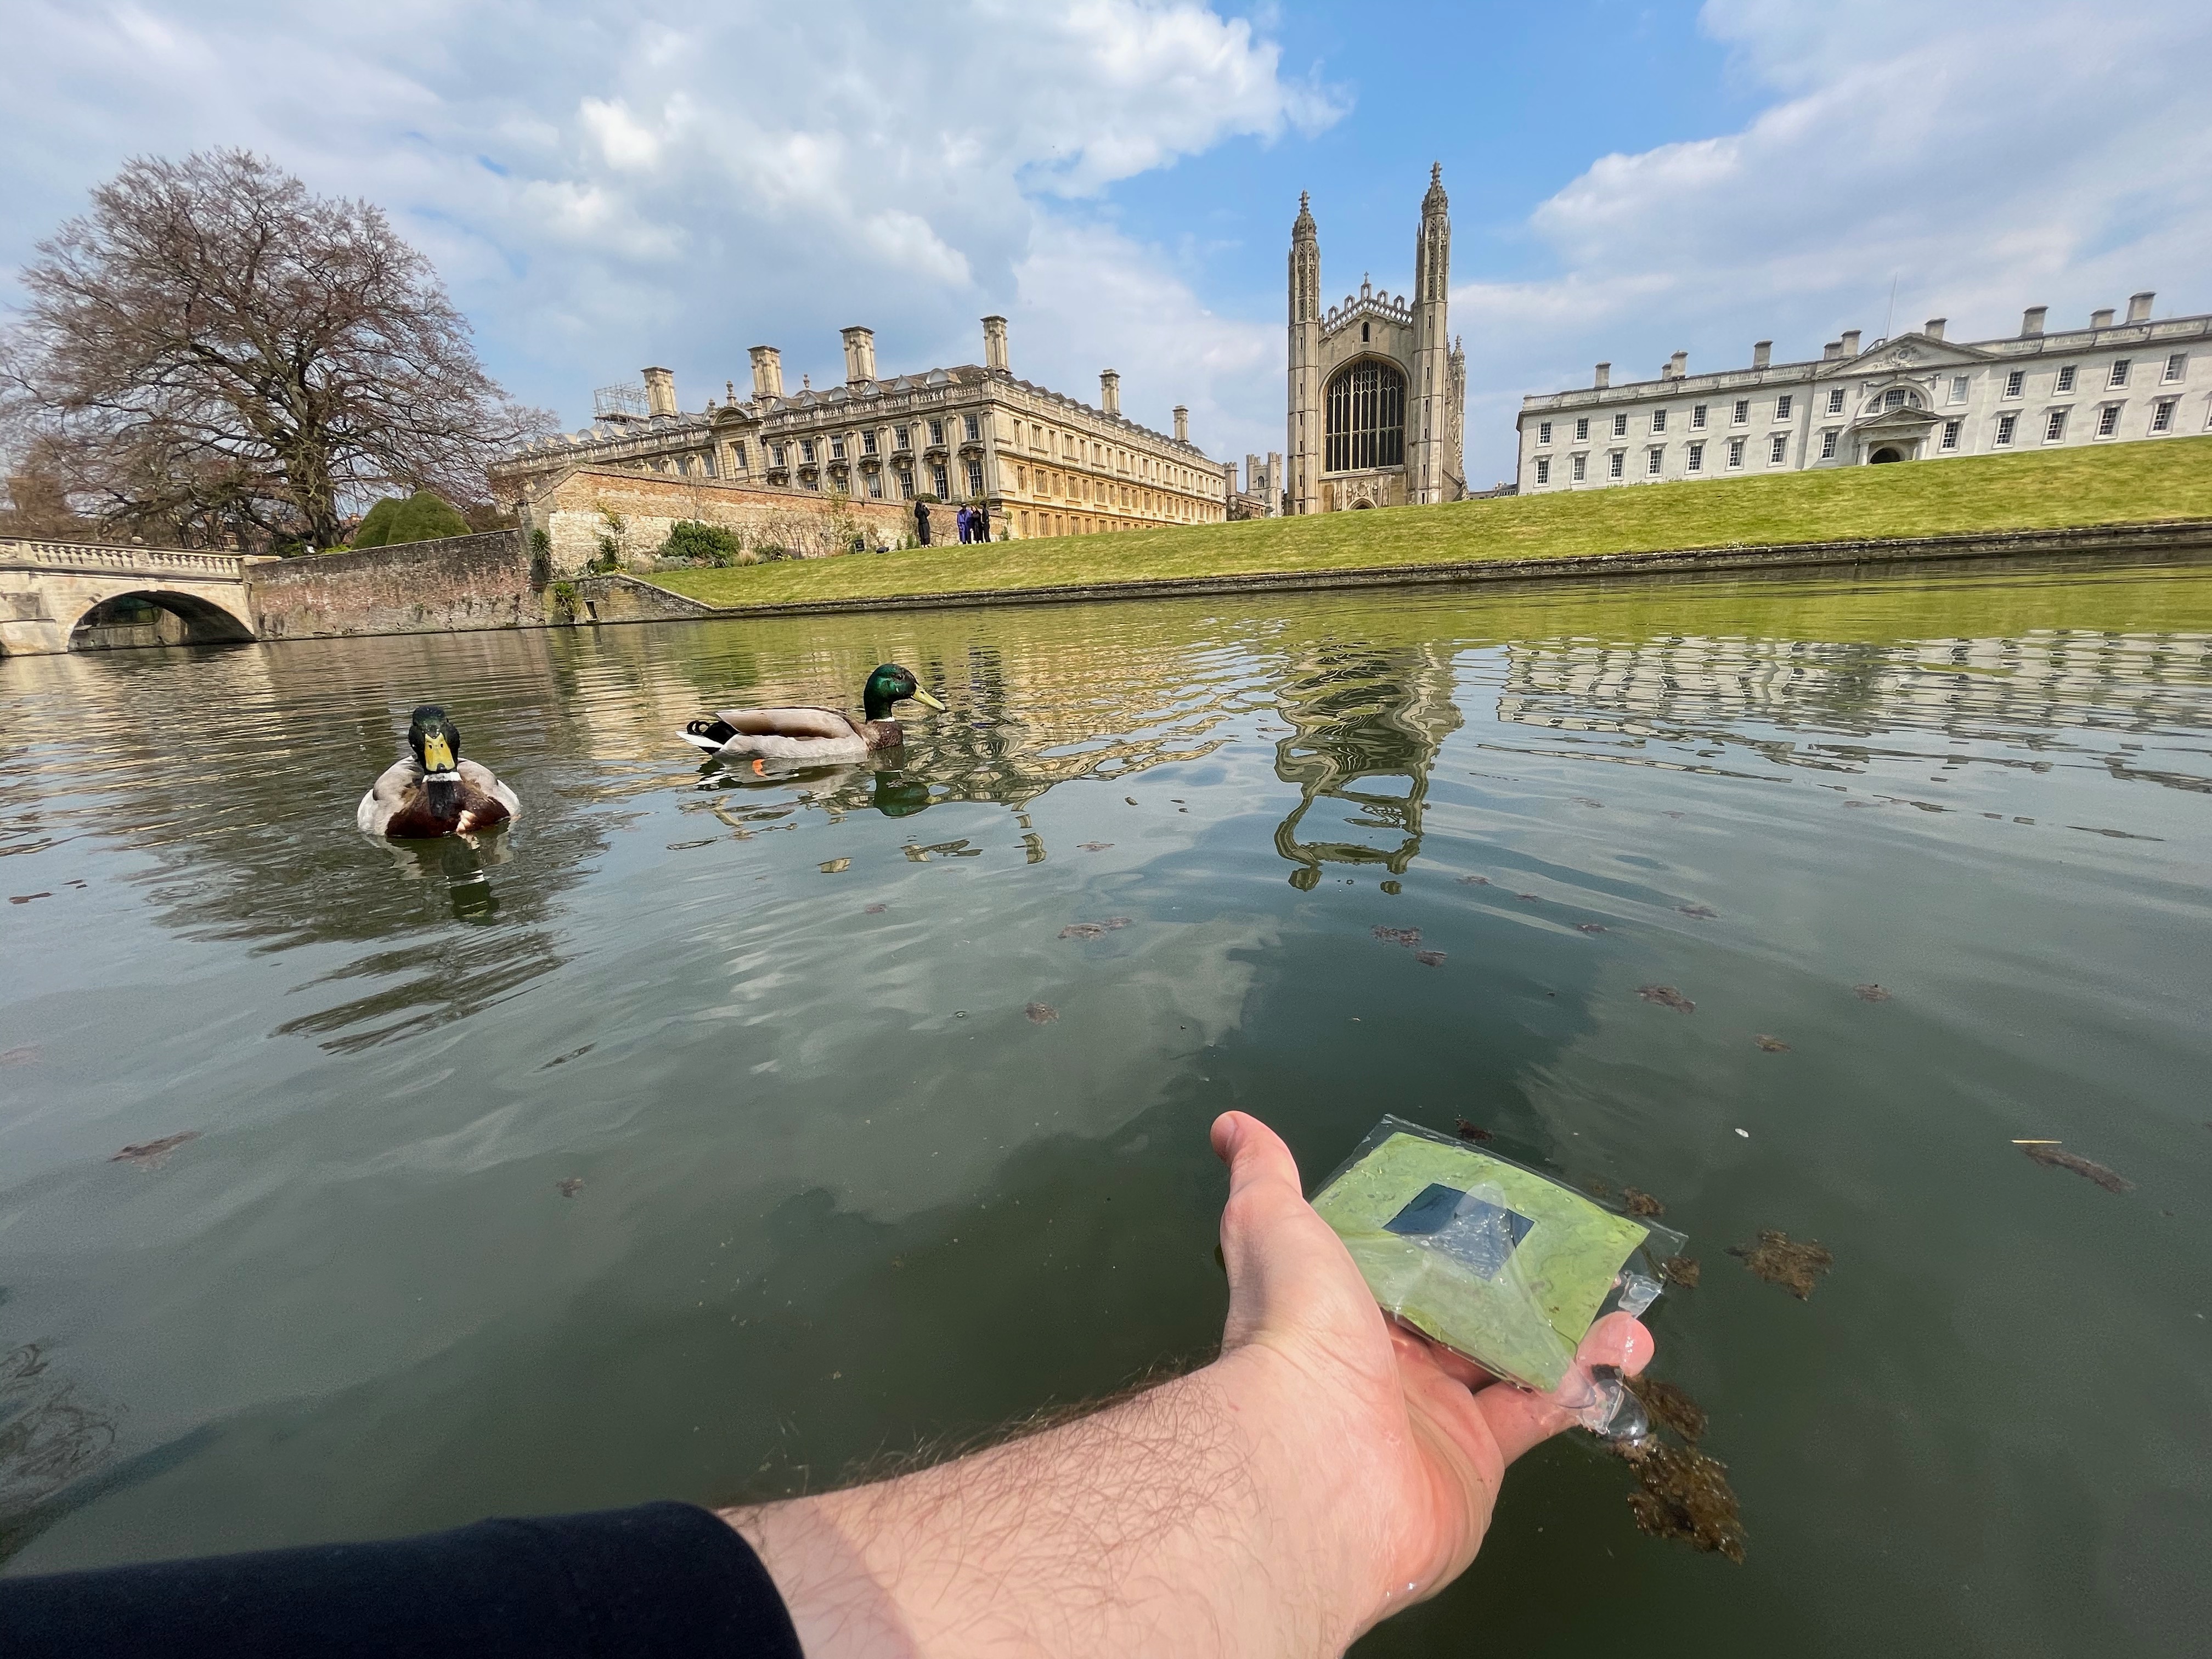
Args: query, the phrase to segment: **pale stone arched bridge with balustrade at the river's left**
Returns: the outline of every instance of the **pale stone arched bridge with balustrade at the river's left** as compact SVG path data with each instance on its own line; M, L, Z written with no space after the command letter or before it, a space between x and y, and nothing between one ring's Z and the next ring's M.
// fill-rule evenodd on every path
M254 637L259 557L0 538L0 657Z

